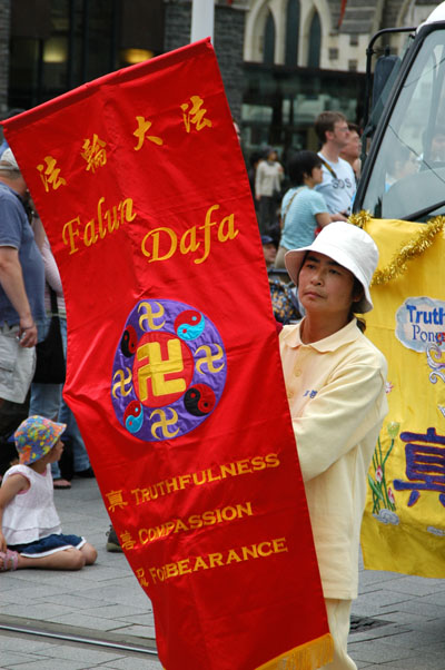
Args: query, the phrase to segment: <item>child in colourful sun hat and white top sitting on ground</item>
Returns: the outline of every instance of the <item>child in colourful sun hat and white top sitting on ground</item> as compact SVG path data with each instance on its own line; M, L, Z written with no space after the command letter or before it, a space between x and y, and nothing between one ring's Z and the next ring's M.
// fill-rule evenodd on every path
M51 463L61 456L66 427L36 415L14 433L20 464L4 473L0 489L0 572L80 570L97 559L85 538L61 533L53 502Z

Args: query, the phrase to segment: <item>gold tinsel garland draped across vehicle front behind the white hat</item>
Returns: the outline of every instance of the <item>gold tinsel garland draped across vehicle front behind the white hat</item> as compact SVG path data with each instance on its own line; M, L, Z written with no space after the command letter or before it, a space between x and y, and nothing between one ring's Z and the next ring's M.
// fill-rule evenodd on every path
M366 225L372 220L369 211L359 211L358 214L352 214L349 223L359 228L365 228ZM407 262L413 260L417 256L421 256L426 249L431 247L434 238L445 226L445 216L435 216L427 224L421 233L405 243L402 248L393 256L392 262L384 269L377 269L374 273L370 286L378 286L380 284L387 284L392 279L399 277L407 269Z

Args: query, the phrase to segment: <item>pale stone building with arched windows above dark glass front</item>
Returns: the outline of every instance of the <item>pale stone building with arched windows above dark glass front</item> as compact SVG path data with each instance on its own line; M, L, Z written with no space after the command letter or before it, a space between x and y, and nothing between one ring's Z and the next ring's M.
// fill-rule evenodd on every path
M317 147L326 109L360 122L366 49L387 27L418 26L436 7L423 0L250 0L244 41L243 136L254 149ZM405 37L386 38L400 53ZM377 43L376 43L377 49Z

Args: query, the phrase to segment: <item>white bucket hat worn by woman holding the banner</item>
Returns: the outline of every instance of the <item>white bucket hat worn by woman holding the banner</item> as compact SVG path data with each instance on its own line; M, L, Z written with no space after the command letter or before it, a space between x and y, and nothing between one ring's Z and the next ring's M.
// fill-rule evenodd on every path
M378 249L370 235L344 221L334 221L325 226L310 246L291 249L285 255L286 269L296 285L306 252L318 252L329 256L352 272L364 289L364 296L357 302L355 311L364 314L373 309L369 284L377 267Z

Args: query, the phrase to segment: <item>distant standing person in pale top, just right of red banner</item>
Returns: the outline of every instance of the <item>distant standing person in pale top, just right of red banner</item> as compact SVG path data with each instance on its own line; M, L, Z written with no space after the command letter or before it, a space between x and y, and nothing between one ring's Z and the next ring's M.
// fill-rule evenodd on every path
M261 235L267 235L275 225L283 179L284 169L277 160L277 151L268 147L255 176L255 198L258 201L258 225Z

